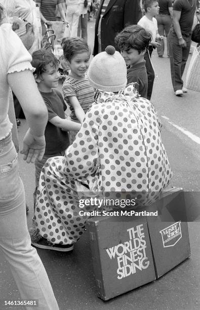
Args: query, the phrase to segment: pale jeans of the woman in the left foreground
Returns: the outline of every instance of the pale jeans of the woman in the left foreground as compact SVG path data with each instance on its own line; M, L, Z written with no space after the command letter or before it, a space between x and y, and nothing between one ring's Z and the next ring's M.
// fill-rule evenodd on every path
M30 244L24 187L11 134L0 141L0 251L22 299L38 299L39 310L59 309L45 267Z

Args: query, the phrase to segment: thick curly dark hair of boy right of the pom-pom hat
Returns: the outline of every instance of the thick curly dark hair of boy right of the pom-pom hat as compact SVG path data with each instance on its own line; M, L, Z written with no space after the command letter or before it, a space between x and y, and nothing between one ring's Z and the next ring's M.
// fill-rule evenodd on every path
M140 54L147 49L152 36L150 31L139 25L131 25L124 28L115 36L115 44L119 50L128 51L135 49Z

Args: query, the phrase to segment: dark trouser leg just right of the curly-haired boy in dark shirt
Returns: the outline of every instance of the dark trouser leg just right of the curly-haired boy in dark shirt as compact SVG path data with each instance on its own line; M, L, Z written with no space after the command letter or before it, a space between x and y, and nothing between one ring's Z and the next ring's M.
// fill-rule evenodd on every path
M144 54L144 59L146 61L145 66L146 66L146 73L147 73L147 79L148 79L148 88L147 88L147 99L151 99L151 94L153 90L153 82L155 78L155 73L151 64L151 54L152 54L152 47L149 46L149 50L147 49L145 54Z

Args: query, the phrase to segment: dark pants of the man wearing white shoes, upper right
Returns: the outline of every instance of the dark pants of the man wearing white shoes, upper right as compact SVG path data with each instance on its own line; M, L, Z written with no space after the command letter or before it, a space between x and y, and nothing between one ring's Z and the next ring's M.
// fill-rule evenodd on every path
M171 78L174 91L182 89L183 87L183 72L186 61L189 56L191 35L183 35L186 42L186 47L181 47L178 43L178 37L175 32L170 30L168 35L169 49L170 49L170 67Z

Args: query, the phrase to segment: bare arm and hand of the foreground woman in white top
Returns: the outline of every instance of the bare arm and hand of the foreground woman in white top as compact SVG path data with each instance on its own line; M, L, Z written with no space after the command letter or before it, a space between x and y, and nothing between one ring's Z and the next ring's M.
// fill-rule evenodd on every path
M41 160L45 152L47 108L30 70L9 73L8 83L17 96L30 127L24 137L21 153L27 163L34 163L36 158Z

